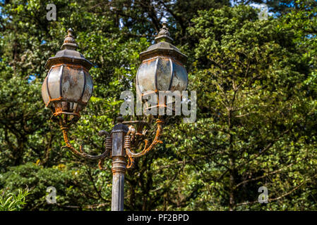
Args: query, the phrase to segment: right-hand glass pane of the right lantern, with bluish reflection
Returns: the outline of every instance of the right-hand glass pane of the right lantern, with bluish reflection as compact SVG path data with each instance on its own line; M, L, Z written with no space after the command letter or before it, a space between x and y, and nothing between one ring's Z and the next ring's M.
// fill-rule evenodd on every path
M183 65L173 62L173 78L170 91L185 91L189 78Z

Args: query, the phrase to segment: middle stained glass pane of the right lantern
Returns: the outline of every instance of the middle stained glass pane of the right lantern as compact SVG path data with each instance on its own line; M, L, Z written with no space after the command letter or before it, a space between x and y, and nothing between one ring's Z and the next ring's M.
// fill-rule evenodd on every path
M172 78L172 68L169 58L158 58L157 62L157 90L169 91Z

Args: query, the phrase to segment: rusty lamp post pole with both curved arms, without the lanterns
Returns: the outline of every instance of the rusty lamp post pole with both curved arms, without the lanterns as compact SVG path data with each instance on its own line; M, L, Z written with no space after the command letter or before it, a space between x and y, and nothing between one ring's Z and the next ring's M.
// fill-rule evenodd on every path
M98 167L102 170L107 169L103 167L104 160L107 157L112 158L112 211L122 211L124 210L124 176L126 169L133 167L134 158L138 158L142 155L148 153L157 143L162 143L159 140L160 135L162 134L162 124L163 120L158 119L156 121L157 131L155 138L153 139L150 146L148 146L148 140L145 139L145 146L140 153L133 153L131 150L131 137L138 136L140 139L145 136L145 132L141 131L144 127L149 127L147 122L143 121L131 121L128 123L135 124L138 127L136 129L130 125L127 127L126 124L123 124L123 118L118 117L118 123L114 125L111 134L107 131L100 131L99 136L105 137L105 150L101 155L89 155L83 151L83 145L80 146L79 150L71 146L70 141L68 141L68 129L71 125L71 120L68 120L66 114L59 115L59 124L61 130L63 131L64 141L66 146L62 148L68 148L74 155L78 155L81 158L88 160L99 160ZM133 145L138 144L138 140L133 141ZM126 162L126 157L128 158L128 164Z

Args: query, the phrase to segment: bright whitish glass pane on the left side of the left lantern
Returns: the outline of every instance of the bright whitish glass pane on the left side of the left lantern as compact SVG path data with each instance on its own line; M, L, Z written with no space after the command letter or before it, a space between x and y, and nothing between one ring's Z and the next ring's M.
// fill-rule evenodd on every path
M49 71L48 77L48 86L49 86L49 95L51 98L59 98L60 95L60 77L61 77L61 66L56 66Z

